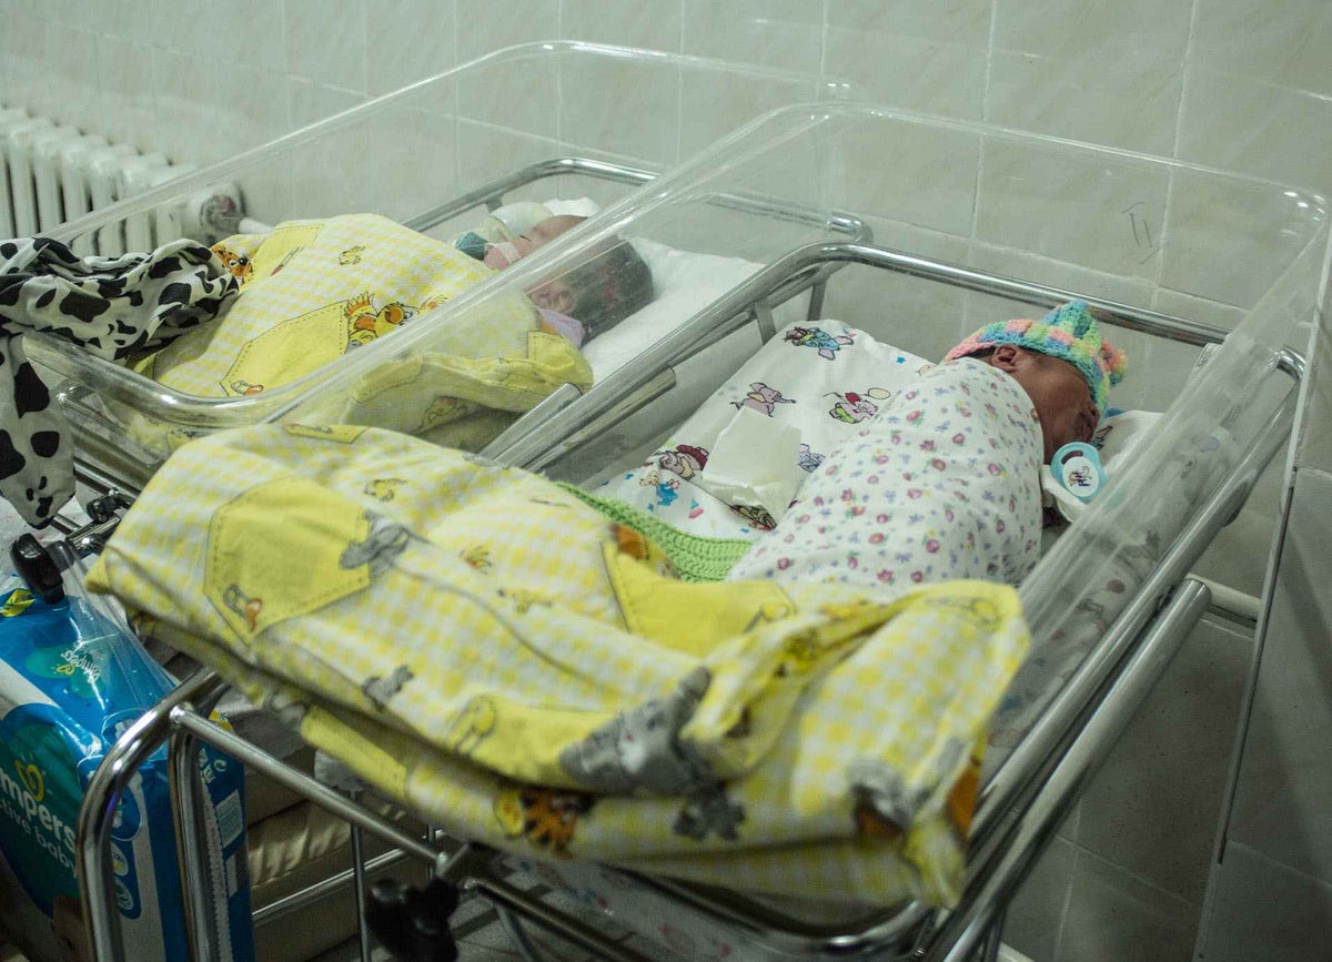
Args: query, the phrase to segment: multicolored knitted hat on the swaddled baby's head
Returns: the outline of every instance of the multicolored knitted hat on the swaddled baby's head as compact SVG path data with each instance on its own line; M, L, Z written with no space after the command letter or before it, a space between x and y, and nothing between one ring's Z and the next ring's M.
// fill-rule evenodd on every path
M1000 344L1014 344L1027 350L1050 354L1082 372L1091 388L1092 401L1106 410L1106 396L1112 384L1124 380L1128 358L1124 352L1112 348L1100 334L1100 325L1087 310L1084 301L1068 301L1042 317L1039 321L999 321L987 324L943 360L978 354L982 350L998 348Z

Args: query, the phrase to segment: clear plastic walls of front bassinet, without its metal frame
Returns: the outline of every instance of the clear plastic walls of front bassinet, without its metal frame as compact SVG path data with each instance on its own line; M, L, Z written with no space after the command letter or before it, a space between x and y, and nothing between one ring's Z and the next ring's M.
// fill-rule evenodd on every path
M1131 356L1110 404L1150 406L1164 418L1023 585L1035 648L996 722L987 759L994 770L1126 605L1159 602L1243 504L1240 489L1233 505L1217 502L1225 510L1207 516L1299 392L1291 376L1299 360L1285 345L1305 341L1317 316L1325 201L1175 161L846 104L770 115L659 179L622 225L606 229L698 245L709 233L713 242L725 233L733 249L755 260L778 232L782 244L815 240L781 223L771 233L745 233L747 215L719 203L727 196L846 212L888 248L1184 322L1167 336L1131 318L1107 329ZM1046 309L1018 296L854 265L829 280L822 316L939 357L982 324ZM541 462L542 470L586 482L605 477L617 457L631 461L651 450L675 426L671 418L687 416L751 356L755 328L715 345L701 340L706 350L655 366L637 365L645 385L665 378L663 393L587 432L586 444ZM1221 338L1189 378L1200 346ZM695 377L709 364L718 366ZM1285 428L1275 422L1275 444ZM1196 538L1184 537L1191 530ZM1166 562L1184 568L1155 596L1139 597Z

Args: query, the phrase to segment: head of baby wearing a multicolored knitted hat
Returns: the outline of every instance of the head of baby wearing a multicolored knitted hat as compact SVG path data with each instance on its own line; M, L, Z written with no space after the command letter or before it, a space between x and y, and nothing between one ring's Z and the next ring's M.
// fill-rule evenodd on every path
M948 352L946 361L975 357L1012 376L1040 418L1046 462L1071 441L1091 441L1112 384L1127 358L1102 337L1083 301L1055 308L1039 321L990 324Z

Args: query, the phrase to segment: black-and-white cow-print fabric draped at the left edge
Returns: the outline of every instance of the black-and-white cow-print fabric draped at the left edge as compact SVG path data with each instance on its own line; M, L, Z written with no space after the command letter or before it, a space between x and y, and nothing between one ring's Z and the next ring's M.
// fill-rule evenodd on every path
M0 496L40 528L75 490L67 425L24 354L24 333L121 360L217 317L237 289L192 240L121 257L79 257L49 237L0 241Z

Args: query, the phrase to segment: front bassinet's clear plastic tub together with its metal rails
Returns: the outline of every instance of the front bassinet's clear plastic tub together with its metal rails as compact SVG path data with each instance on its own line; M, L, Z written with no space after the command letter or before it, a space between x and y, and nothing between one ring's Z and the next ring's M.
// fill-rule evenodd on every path
M847 266L829 280L819 316L931 358L983 324L1083 297L1112 316L1107 333L1131 358L1111 406L1163 412L1022 585L1032 649L991 726L963 903L938 930L919 905L856 910L661 879L631 897L595 891L622 919L650 918L630 927L697 925L730 939L737 958L906 953L918 941L920 958L970 958L1205 609L1208 590L1188 573L1264 466L1281 465L1300 352L1324 308L1327 201L1192 164L859 104L774 112L663 177L654 195L665 211L673 191L694 197L737 184L854 212L875 242L794 252L579 406L527 433L519 422L488 453L586 482L605 477L617 452L651 452L674 428L657 414L669 398L697 404L709 389L689 377L705 356L698 345L715 338L709 332L747 325L770 336L773 292L830 262ZM1219 346L1203 356L1208 344ZM662 389L645 408L634 385L649 382ZM1227 549L1267 557L1271 526L1247 534ZM566 874L571 891L590 883L577 867ZM678 901L697 911L690 922L674 914Z

